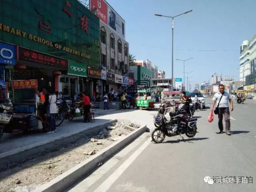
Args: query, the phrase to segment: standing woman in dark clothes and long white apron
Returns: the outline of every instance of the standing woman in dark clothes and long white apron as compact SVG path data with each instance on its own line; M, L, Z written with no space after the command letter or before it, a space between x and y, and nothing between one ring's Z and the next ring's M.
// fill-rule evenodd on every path
M57 105L56 105L57 96L54 91L50 90L49 93L45 95L45 105L46 108L46 116L47 121L49 122L50 131L48 133L56 132L56 121L55 116L57 113Z

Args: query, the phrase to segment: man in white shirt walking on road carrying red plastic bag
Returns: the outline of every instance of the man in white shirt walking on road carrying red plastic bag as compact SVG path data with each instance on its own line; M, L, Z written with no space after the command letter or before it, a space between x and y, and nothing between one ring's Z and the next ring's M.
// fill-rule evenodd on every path
M228 102L230 102L230 110L231 111L234 110L234 107L233 107L233 102L230 97L230 94L228 92L224 91L223 84L219 85L218 92L216 94L214 94L214 96L212 98L212 109L214 108L214 105L216 104L216 102L218 103L218 105L217 105L218 118L219 118L218 127L220 129L220 132L218 132L218 134L223 132L222 120L223 120L223 116L224 116L224 120L226 123L226 134L230 135L230 112L229 112Z

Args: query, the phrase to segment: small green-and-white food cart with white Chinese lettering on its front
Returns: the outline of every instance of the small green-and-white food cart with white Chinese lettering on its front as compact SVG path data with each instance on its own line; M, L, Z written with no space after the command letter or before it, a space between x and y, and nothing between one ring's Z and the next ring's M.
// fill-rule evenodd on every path
M138 97L136 98L136 106L137 108L140 108L140 110L143 109L154 109L156 102L155 99L152 99L151 96L147 96L147 93L152 93L152 89L148 90L138 90Z

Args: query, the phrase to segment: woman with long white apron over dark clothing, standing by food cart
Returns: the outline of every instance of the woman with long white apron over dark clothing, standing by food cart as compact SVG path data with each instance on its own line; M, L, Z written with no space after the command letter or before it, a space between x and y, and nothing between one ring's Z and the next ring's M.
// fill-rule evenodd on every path
M54 92L49 94L48 104L50 105L50 116L47 117L47 120L50 124L50 131L48 133L56 132L56 121L55 115L57 113L57 106L56 106L57 96Z

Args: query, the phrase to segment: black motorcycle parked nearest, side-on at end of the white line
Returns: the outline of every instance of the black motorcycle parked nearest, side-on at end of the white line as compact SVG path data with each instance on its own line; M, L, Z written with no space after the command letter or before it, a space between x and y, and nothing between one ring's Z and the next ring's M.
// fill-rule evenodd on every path
M172 137L180 134L193 138L197 130L196 121L197 118L188 118L185 114L177 114L168 121L163 114L159 113L154 116L154 124L158 127L151 134L152 141L161 143L165 136Z

